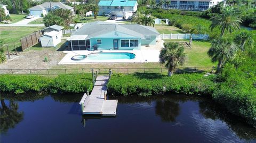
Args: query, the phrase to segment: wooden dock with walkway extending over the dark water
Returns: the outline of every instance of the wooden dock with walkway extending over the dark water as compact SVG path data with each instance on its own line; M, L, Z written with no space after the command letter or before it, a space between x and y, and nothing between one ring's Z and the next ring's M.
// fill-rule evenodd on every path
M107 83L109 76L100 75L97 77L91 95L86 93L79 103L82 114L115 116L117 100L107 100Z

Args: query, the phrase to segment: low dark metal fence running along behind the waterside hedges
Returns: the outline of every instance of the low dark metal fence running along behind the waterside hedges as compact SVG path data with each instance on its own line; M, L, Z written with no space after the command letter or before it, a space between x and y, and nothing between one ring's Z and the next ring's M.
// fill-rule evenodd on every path
M212 72L215 70L212 66L201 67L181 67L175 72L191 73L191 72ZM94 68L99 74L108 74L107 68ZM165 68L111 68L113 73L167 73ZM76 74L76 73L91 73L91 69L0 69L0 74Z

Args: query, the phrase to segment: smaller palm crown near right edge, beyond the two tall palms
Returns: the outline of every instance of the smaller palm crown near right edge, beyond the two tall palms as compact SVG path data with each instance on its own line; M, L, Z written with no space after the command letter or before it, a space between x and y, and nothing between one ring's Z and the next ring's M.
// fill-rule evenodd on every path
M241 31L239 32L235 39L234 39L235 43L237 45L239 45L239 48L244 51L244 45L246 43L246 41L248 41L249 45L252 46L253 45L253 38L252 38L252 33L249 31Z

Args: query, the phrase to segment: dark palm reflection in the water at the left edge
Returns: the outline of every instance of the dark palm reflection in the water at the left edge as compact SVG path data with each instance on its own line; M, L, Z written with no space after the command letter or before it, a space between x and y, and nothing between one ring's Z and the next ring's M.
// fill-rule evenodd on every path
M14 128L16 124L23 120L23 112L19 112L18 103L10 100L7 105L4 99L1 99L1 133L6 133L10 128Z

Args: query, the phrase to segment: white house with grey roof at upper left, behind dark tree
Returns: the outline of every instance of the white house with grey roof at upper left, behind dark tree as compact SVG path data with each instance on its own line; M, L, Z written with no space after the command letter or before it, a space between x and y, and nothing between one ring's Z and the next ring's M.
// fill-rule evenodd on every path
M55 10L55 9L66 9L74 13L74 7L68 6L60 2L45 2L43 4L39 4L34 7L31 7L28 10L29 10L29 13L34 15L35 17L41 17L46 15L49 11Z

